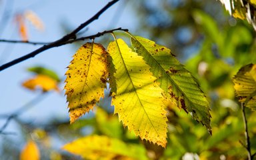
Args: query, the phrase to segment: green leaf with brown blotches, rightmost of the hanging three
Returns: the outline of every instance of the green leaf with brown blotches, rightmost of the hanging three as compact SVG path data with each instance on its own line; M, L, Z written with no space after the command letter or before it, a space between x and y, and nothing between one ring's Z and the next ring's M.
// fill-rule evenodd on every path
M151 67L151 72L171 102L191 113L211 133L209 103L195 77L179 63L171 50L142 37L131 39L134 50Z

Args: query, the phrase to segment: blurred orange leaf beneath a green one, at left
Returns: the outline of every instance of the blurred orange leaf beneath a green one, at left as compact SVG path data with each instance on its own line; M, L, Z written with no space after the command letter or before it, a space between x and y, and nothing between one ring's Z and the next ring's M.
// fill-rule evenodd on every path
M47 75L36 75L33 79L25 81L22 85L23 87L31 90L35 90L39 87L43 92L50 91L52 89L59 91L57 81Z

